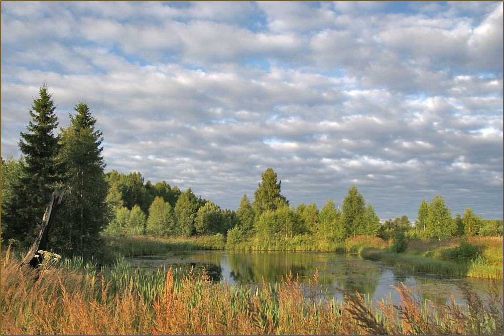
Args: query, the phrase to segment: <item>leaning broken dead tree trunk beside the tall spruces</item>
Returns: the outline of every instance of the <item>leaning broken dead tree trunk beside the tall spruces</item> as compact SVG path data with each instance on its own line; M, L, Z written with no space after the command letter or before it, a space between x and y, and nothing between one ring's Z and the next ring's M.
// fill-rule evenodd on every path
M54 190L52 192L49 204L47 205L47 208L45 208L44 217L42 217L42 226L40 227L40 232L33 242L32 247L24 257L22 264L29 264L31 267L36 268L39 262L42 260L42 255L39 255L38 258L35 257L35 255L38 253L37 251L45 250L47 248L47 241L49 240L47 234L49 232L49 227L57 208L59 208L61 204L61 199L63 198L64 194L65 190Z

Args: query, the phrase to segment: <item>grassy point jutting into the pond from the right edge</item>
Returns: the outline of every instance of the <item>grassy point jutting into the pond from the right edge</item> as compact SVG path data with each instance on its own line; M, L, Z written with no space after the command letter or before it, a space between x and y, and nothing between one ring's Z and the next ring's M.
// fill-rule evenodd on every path
M413 272L502 279L502 237L413 240L404 253L364 250L362 255Z

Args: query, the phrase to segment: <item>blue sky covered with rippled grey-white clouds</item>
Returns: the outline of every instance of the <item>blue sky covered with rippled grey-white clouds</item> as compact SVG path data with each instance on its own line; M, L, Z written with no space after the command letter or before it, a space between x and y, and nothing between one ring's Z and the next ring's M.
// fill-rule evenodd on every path
M502 219L502 2L2 2L2 157L45 80L106 171L236 209L271 167L297 206L355 184L382 220L439 193Z

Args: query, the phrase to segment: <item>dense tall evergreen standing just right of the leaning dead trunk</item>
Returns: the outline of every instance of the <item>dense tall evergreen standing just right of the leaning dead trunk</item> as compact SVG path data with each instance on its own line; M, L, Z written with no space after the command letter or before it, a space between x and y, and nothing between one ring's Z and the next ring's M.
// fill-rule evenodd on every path
M93 250L98 246L99 233L110 220L106 203L108 183L103 169L102 132L95 128L88 105L79 102L70 125L61 129L59 159L65 167L64 185L70 190L65 207L57 215L63 243L73 251Z

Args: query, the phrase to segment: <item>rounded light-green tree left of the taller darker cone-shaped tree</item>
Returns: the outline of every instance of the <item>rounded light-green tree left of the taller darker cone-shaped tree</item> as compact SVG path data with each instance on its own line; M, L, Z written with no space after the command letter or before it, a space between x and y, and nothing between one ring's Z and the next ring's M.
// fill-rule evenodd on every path
M149 207L147 233L155 236L169 236L175 228L175 214L171 205L160 196L156 196Z

